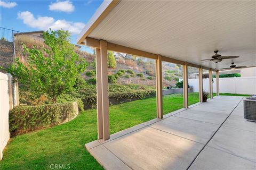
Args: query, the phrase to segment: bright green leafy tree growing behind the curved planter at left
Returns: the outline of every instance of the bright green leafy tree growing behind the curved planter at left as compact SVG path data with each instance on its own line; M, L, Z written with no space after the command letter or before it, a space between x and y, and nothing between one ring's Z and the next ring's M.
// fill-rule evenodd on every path
M6 71L33 94L46 94L56 103L58 96L74 90L87 63L75 53L68 31L50 30L44 32L43 37L45 47L28 48L22 44L28 54L27 63L17 58Z

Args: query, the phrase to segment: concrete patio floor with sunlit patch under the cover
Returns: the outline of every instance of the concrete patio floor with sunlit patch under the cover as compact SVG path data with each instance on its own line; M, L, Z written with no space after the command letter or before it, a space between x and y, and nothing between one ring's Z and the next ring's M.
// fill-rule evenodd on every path
M243 97L218 96L85 147L105 169L256 169L256 123Z

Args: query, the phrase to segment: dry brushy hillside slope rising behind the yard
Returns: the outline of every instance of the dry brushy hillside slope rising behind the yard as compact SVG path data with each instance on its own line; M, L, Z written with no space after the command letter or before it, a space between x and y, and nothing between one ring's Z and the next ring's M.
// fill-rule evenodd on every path
M20 61L26 63L26 54L23 54L21 43L27 47L45 47L42 38L22 36L15 39L15 53ZM95 57L74 46L76 53L88 62L83 78L89 84L95 84ZM117 84L143 84L155 86L155 61L149 58L114 53L116 67L108 69L110 83ZM182 79L182 66L163 62L163 86L175 86L175 83ZM119 73L119 72L123 73ZM112 75L112 76L111 76ZM113 78L115 77L115 78ZM111 80L114 81L111 81Z

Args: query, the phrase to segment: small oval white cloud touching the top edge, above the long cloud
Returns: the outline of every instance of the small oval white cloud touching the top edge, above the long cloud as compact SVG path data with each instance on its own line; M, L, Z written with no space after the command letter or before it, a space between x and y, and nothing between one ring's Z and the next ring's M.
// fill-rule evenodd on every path
M49 5L49 10L71 13L75 10L75 6L70 1L57 1Z

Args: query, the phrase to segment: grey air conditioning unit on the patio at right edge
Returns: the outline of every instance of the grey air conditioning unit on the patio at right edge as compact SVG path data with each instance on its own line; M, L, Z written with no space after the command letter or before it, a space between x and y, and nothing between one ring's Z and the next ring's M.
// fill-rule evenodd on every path
M256 96L244 99L244 118L256 122Z

